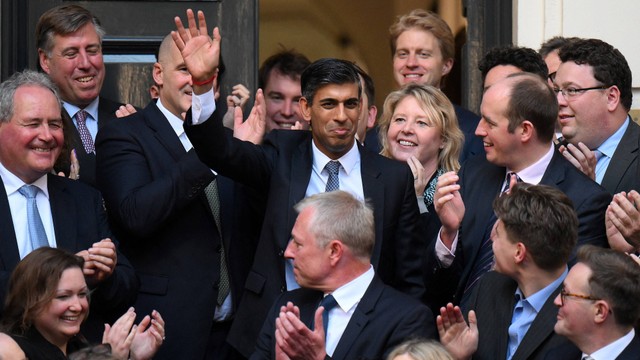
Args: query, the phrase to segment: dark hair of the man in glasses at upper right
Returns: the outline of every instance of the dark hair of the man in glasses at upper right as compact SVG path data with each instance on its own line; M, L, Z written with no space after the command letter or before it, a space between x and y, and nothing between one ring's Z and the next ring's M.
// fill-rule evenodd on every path
M591 66L593 77L605 86L617 86L622 106L631 109L631 69L618 49L599 39L578 39L562 47L558 56L562 62Z

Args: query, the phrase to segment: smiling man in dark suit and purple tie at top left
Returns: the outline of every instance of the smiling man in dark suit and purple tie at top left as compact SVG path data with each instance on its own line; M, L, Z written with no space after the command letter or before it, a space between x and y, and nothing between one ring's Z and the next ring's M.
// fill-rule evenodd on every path
M39 65L56 84L63 101L66 143L56 171L78 176L91 186L96 186L96 134L122 105L99 96L105 76L104 34L97 17L73 4L46 11L36 25ZM71 167L76 158L79 173Z

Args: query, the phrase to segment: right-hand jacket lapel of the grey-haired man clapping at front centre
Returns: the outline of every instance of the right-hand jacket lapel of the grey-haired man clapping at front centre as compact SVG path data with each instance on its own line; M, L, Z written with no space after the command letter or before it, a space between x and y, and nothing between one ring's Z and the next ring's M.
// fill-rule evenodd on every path
M340 337L340 341L338 341L338 346L336 346L336 350L333 352L332 358L347 359L349 350L358 340L362 330L367 326L371 313L375 309L376 303L382 295L383 289L384 285L382 284L382 281L377 276L374 276L369 288L356 306L347 327L344 329L344 332Z

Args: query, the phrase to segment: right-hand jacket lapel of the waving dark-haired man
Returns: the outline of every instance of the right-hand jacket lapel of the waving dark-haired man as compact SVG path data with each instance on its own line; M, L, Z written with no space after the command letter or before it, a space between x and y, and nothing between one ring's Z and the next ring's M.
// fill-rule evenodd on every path
M382 239L384 227L384 182L380 181L380 169L375 166L371 152L365 150L358 144L360 151L360 173L362 176L362 191L364 197L369 199L373 204L373 216L376 227L376 239ZM373 253L371 255L371 264L374 268L378 267L380 262L380 252L382 241L374 243Z

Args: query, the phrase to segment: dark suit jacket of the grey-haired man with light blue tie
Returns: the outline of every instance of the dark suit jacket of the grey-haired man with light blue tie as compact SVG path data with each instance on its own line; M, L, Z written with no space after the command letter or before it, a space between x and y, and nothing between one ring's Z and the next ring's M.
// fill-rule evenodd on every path
M48 176L47 187L58 248L77 253L107 237L115 242L98 191L56 175ZM20 261L20 253L1 179L0 188L0 300L4 304L9 277ZM82 333L92 342L101 342L105 322L113 323L136 298L139 283L133 267L122 253L117 256L113 274L91 293L89 318Z

